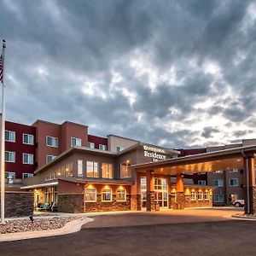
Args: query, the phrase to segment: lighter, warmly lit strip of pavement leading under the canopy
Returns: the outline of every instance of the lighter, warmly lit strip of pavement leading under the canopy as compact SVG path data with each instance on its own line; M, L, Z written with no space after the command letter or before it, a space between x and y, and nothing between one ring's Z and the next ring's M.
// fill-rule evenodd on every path
M99 227L137 226L152 224L179 224L195 222L225 221L228 216L242 213L243 208L216 207L171 210L162 212L137 212L117 215L95 216L93 222L85 224L83 229Z

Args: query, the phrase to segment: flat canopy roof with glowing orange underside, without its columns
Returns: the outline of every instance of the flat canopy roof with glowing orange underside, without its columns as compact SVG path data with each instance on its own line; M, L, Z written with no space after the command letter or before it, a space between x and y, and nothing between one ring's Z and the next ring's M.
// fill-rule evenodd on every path
M248 155L254 155L255 152L256 145L252 145L138 164L132 167L136 172L150 170L154 171L155 174L165 175L214 172L235 168L242 169L243 158Z

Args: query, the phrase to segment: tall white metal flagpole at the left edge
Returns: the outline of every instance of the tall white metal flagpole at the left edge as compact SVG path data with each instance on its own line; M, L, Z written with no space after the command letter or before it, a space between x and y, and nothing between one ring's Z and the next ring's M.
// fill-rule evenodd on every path
M3 60L3 84L2 84L2 121L1 121L1 223L4 224L4 183L5 183L5 98L4 98L4 54L5 54L5 40L3 39L3 50L2 50L2 60Z

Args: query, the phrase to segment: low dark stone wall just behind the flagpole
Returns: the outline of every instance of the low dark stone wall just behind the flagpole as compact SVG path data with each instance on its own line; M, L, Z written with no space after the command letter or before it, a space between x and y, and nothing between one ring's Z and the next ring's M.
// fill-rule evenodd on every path
M31 215L34 210L34 194L32 192L6 191L4 210L6 218Z

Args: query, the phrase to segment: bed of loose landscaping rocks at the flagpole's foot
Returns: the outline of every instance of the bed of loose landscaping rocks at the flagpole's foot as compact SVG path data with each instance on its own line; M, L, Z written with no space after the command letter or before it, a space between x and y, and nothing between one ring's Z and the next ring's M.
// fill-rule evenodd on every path
M14 219L0 224L0 234L26 232L35 230L57 230L61 229L68 222L79 218L35 218L33 223L29 218Z

